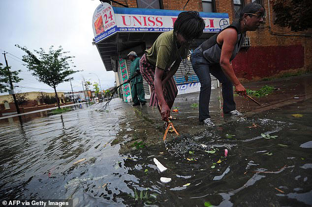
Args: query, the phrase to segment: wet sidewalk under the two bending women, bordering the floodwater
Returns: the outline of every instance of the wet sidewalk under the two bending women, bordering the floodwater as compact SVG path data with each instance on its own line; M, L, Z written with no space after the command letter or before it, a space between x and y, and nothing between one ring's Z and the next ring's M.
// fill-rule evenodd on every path
M257 102L262 104L261 106L240 96L235 96L234 100L237 104L237 110L250 117L262 111L312 98L311 83L312 74L245 83L243 84L245 88L251 90L258 90L264 85L274 86L277 90L262 98L253 97ZM199 92L182 94L175 100L173 108L178 107L179 111L171 112L171 115L177 118L172 123L180 134L196 134L202 133L205 130L209 131L209 128L200 125L198 122L198 106L196 107L198 102ZM236 117L223 116L220 88L212 90L209 108L212 120L217 127L237 119ZM153 146L163 142L162 137L165 130L156 107L149 107L148 104L142 107L122 104L121 110L126 117L125 122L121 122L120 127L122 130L117 134L117 138L113 141L112 145L124 141L127 137L131 137L123 145L121 153L135 150L133 147L134 142L144 141L147 146ZM170 133L167 135L167 139L174 137L176 137L175 134Z

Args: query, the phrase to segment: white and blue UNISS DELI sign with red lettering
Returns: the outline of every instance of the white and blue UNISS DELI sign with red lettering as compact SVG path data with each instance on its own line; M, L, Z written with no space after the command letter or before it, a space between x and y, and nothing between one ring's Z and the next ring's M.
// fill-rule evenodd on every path
M100 4L94 11L93 27L95 43L116 32L164 32L173 29L178 18L177 10L112 7ZM227 13L200 12L205 21L204 32L218 32L229 25Z

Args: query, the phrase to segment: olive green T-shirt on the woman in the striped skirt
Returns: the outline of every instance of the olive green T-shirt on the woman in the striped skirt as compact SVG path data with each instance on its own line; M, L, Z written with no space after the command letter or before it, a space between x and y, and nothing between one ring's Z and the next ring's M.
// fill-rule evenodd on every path
M173 40L173 30L166 31L159 35L153 46L146 50L148 61L160 68L167 69L176 60L187 57L188 47L181 46L177 50L176 43ZM179 53L178 53L179 52ZM181 57L180 57L181 54Z

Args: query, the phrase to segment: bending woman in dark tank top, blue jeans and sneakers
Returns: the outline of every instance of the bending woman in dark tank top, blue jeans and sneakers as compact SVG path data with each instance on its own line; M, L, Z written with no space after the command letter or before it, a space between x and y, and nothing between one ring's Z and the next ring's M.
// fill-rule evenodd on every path
M211 94L210 74L222 83L223 113L242 115L236 110L233 85L239 95L246 89L236 77L230 61L234 59L244 42L246 31L256 30L263 22L265 9L257 3L247 4L240 19L202 43L192 54L191 63L201 87L199 94L199 121L205 126L214 126L209 115Z

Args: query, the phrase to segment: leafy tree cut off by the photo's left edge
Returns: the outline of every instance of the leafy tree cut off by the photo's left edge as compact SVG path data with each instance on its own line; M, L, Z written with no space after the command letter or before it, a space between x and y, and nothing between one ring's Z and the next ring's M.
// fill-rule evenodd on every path
M21 72L21 70L18 71L9 71L11 67L4 67L2 68L2 64L0 63L0 93L7 92L10 89L10 80L9 76L11 75L12 83L17 83L22 78L18 78L18 74Z

